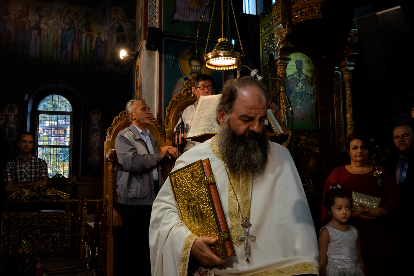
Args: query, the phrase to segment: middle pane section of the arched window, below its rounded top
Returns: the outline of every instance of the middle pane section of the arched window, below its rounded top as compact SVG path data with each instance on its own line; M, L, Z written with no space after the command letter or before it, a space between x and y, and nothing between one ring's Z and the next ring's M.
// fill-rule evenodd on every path
M69 146L70 115L39 114L38 145Z

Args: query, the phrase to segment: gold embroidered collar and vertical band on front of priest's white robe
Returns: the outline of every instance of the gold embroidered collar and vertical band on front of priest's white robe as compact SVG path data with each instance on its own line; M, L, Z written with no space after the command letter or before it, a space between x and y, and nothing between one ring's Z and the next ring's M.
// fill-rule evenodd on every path
M217 135L211 139L210 149L212 150L214 156L219 158L219 160L223 161L223 158L221 157L221 153L219 151L219 147L217 145ZM249 210L250 201L249 176L246 173L236 177L235 175L229 172L229 178L231 183L233 183L234 190L241 202L241 213L247 214ZM238 240L238 235L243 235L243 228L241 227L241 221L243 220L243 218L241 218L240 214L238 213L237 200L234 196L233 191L230 188L228 189L228 198L231 240L233 241L234 245L239 247L243 244L243 241Z

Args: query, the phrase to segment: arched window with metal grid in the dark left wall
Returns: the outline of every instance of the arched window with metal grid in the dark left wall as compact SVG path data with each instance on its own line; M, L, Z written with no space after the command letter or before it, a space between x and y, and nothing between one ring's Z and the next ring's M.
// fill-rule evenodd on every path
M48 95L37 107L37 157L48 164L49 177L71 175L72 105L63 96Z

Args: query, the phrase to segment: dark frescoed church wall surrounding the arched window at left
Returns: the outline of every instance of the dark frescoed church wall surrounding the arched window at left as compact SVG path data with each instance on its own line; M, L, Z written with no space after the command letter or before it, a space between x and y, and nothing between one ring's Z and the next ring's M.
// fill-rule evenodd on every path
M0 74L2 135L0 138L2 144L5 144L5 139L7 140L4 137L6 126L3 125L7 117L7 111L5 111L7 105L18 107L18 112L13 118L14 125L17 127L17 132L14 134L16 136L17 133L23 131L36 132L34 117L36 117L37 106L34 105L41 100L40 95L73 92L79 98L79 102L71 102L76 111L74 117L79 115L79 119L75 120L73 125L72 173L78 178L91 174L99 179L103 171L102 152L106 129L111 125L113 118L120 111L125 110L125 103L133 96L132 64L122 64L117 58L119 48L117 39L121 38L115 33L115 29L120 26L125 29L125 36L122 37L121 42L135 50L135 37L138 42L142 38L142 24L135 34L135 9L138 3L130 0L31 1L26 10L23 4L27 1L9 1L10 5L4 2L2 1L1 7L8 10L7 24L10 31L6 33L5 38L0 38L5 45L5 52L1 53L0 59L2 68ZM143 2L138 2L142 7ZM37 18L36 10L40 13ZM72 29L74 28L72 32L77 33L78 36L71 38L75 47L71 59L63 60L61 53L58 52L61 50L60 44L63 37L62 20L68 10L72 12L70 24L73 23L69 25ZM49 17L48 11L51 12ZM30 24L37 20L39 26L45 25L48 20L51 24L48 29L49 33L44 31L42 36L41 31L35 32L36 35L39 34L39 40L41 38L43 40L31 43L28 41L31 38L31 26L23 26L24 31L19 32L17 23L14 26L17 19L24 19ZM55 23L57 25L53 25ZM87 35L80 35L81 24L84 24L84 28L89 31ZM16 47L19 41L25 41L21 48ZM40 49L36 53L31 47L38 49L43 47L43 50ZM54 83L71 89L60 93L58 87L49 87L48 91L44 92L46 94L35 93L39 87ZM96 136L92 138L91 127L94 128L94 135L98 134L98 140ZM9 137L8 140L12 138L14 140L17 137ZM12 154L16 155L17 148L14 146L14 141L8 146L11 146ZM7 156L8 159L12 158L12 156ZM2 167L6 161L5 155L1 154L0 159ZM99 180L94 181L99 182ZM72 181L69 179L67 182L70 186ZM51 180L51 185L53 185L53 180ZM62 189L65 190L64 187ZM93 190L96 191L96 187L91 189ZM84 188L82 193L84 194L85 191ZM87 193L91 195L90 192ZM95 195L94 197L101 196Z

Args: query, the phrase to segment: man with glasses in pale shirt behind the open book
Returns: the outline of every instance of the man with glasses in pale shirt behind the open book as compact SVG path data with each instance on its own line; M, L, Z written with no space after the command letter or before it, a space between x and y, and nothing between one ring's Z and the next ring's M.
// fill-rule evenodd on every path
M198 100L200 99L200 96L207 96L207 95L213 95L214 94L214 85L213 85L213 78L210 77L207 74L201 74L195 77L193 80L193 93L197 96L197 101L192 104L191 106L188 106L183 111L183 121L185 125L185 134L188 131L188 127L190 127L191 120L193 119L195 108L197 108ZM181 122L181 120L178 121L175 128L177 128L178 124ZM176 134L177 135L177 134ZM181 144L184 141L181 141L181 136L179 137L180 141L179 144ZM174 139L174 144L176 144L177 137ZM199 142L191 141L191 139L185 139L185 146L184 151L188 151L193 146L200 144Z

